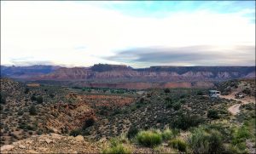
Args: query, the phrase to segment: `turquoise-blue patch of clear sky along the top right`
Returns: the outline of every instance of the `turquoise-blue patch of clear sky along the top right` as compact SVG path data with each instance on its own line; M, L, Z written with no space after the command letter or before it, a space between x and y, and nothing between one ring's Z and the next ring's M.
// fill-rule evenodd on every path
M131 16L160 18L175 12L189 13L198 10L210 10L218 14L237 13L244 9L255 10L255 1L122 1L120 3L92 2L92 4ZM247 15L255 19L253 12Z

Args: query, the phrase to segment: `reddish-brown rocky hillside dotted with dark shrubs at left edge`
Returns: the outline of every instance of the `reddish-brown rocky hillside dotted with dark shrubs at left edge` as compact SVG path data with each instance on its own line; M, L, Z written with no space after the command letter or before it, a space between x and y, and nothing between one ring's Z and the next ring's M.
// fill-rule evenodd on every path
M34 134L64 134L82 127L86 119L95 118L90 106L79 101L66 88L28 87L8 78L1 78L0 81L1 144L26 139Z

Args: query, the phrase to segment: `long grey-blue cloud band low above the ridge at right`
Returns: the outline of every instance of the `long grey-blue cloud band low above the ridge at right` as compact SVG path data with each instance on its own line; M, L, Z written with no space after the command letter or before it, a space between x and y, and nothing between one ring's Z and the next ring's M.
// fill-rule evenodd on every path
M105 57L138 66L254 66L254 46L214 47L188 46L181 48L131 48Z

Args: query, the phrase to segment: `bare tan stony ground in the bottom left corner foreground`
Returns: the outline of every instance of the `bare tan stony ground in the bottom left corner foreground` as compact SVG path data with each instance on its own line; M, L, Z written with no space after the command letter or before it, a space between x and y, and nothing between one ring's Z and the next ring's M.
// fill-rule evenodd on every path
M99 153L104 145L104 140L91 143L81 135L42 134L3 145L1 153Z

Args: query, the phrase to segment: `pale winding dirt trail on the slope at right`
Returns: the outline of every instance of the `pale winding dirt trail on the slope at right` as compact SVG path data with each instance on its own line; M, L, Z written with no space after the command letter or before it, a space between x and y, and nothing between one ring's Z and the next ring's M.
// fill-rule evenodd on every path
M236 101L241 101L241 103L237 103L236 105L233 105L233 106L230 106L228 108L228 111L230 111L230 113L232 115L236 115L237 113L240 112L240 106L241 105L245 105L245 104L248 104L248 103L251 103L253 102L255 104L255 98L243 98L243 99L236 99L235 98L235 93L233 94L229 94L229 95L221 95L220 96L221 98L224 98L224 99L232 99L232 100L236 100Z

